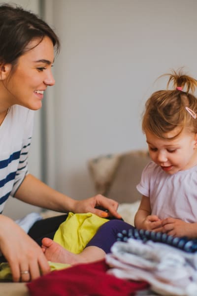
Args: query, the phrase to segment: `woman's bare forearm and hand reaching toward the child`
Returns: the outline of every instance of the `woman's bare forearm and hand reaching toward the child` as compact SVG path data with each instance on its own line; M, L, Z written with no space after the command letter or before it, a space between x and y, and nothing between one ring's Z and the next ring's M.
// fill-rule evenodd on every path
M118 203L112 199L98 194L94 197L77 201L54 190L31 174L25 177L16 191L15 197L34 206L58 212L92 212L100 217L107 217L108 214L106 212L95 209L96 206L100 206L107 209L116 218L121 218L117 213Z

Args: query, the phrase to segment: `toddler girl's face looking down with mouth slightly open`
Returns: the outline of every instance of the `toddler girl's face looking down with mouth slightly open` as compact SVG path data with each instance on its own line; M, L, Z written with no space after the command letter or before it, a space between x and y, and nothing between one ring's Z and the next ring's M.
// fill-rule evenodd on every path
M167 138L177 135L178 129L165 134ZM161 166L167 174L187 170L197 165L197 134L183 130L174 140L160 139L145 132L152 160Z

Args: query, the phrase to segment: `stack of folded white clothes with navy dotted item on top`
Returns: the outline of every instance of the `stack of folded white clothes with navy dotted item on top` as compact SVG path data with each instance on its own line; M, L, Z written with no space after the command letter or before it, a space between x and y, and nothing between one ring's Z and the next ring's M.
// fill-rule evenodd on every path
M131 229L118 234L107 273L146 280L160 295L197 296L197 240Z

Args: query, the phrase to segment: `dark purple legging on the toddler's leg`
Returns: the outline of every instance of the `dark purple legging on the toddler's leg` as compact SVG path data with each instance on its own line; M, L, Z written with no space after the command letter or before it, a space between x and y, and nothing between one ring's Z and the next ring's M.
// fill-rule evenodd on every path
M110 253L111 246L117 241L117 234L131 228L134 227L122 220L110 220L100 226L99 230L86 247L96 246L102 249L106 254Z

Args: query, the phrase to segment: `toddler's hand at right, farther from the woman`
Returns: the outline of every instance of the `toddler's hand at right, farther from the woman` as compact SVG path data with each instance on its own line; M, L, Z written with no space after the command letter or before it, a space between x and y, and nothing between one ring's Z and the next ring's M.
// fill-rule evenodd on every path
M167 233L168 235L179 237L195 237L195 233L193 233L192 229L193 224L174 218L166 218L162 221L163 232Z

